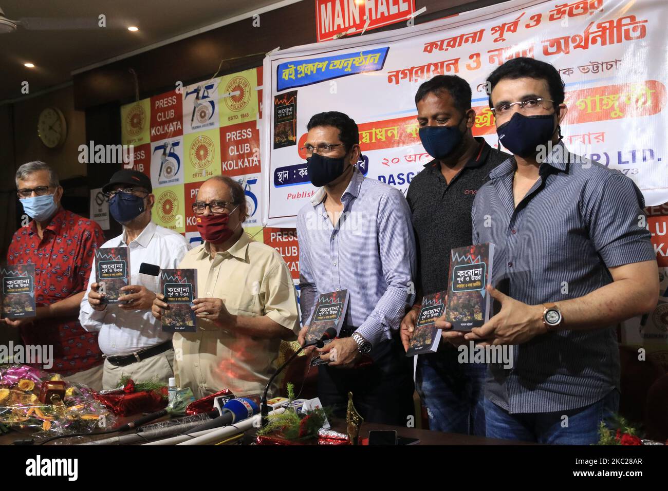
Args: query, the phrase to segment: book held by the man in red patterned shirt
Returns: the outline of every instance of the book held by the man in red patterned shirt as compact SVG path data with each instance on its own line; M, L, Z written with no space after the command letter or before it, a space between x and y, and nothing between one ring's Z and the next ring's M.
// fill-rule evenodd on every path
M2 275L2 317L35 317L35 265L7 265Z

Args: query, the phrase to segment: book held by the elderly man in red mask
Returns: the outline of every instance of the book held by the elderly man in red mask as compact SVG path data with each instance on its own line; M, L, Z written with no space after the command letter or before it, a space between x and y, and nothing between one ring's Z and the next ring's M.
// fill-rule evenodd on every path
M194 333L197 315L190 308L197 298L197 270L188 268L161 269L160 292L169 309L162 313L162 330L166 333Z

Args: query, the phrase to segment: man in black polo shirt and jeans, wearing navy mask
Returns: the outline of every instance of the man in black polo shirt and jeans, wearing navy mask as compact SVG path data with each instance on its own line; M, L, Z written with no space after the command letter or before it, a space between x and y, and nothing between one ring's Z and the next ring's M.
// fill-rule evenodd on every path
M471 208L478 188L508 155L474 138L471 88L456 75L437 75L415 94L420 140L434 160L413 178L407 199L418 244L418 296L401 323L407 349L422 295L448 289L450 249L471 244ZM439 327L452 327L444 317ZM458 363L462 333L444 331L438 353L418 356L415 386L427 406L430 428L485 435L486 365Z

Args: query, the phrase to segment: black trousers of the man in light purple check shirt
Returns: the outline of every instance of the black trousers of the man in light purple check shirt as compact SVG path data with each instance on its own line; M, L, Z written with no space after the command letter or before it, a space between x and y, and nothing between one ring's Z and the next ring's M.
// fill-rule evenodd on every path
M350 329L352 333L354 329ZM346 330L341 330L345 337ZM318 397L323 406L333 407L334 416L345 419L348 392L365 422L406 426L414 416L413 358L407 357L399 333L371 350L373 363L366 367L341 369L319 365Z

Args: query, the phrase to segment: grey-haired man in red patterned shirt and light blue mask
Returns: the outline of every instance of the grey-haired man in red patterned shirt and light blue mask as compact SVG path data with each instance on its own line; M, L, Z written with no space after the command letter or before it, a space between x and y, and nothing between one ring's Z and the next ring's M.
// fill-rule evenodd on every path
M16 185L19 202L33 219L14 233L7 264L35 264L37 317L3 321L19 327L24 345L53 346L53 365L45 369L99 390L98 334L84 331L78 315L94 250L104 242L102 229L60 206L63 188L44 162L19 167Z

